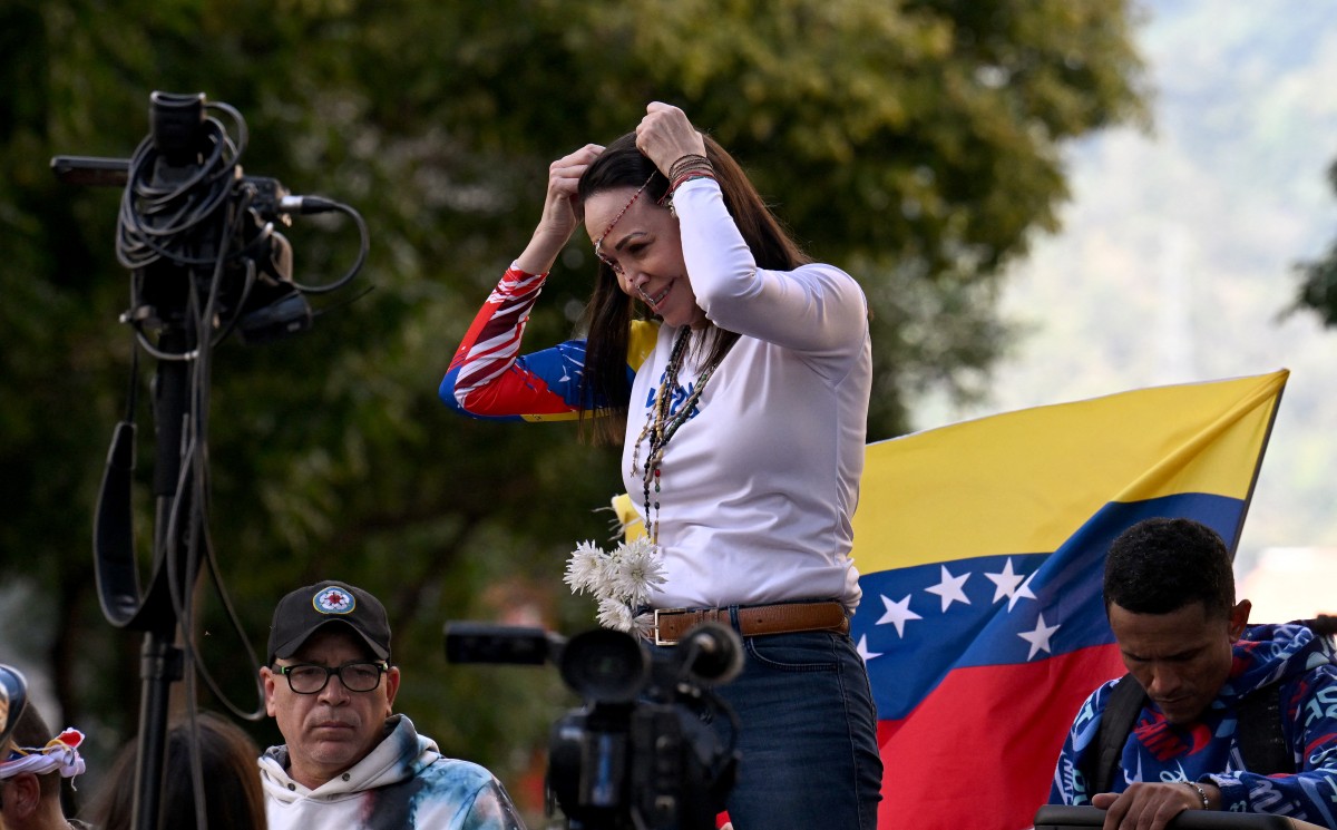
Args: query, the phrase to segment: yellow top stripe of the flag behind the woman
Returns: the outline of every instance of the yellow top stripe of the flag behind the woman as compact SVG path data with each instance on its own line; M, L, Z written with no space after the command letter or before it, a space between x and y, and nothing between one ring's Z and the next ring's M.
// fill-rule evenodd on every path
M1289 372L1155 386L870 444L861 573L1058 549L1110 501L1246 500ZM1211 452L1202 452L1211 446Z

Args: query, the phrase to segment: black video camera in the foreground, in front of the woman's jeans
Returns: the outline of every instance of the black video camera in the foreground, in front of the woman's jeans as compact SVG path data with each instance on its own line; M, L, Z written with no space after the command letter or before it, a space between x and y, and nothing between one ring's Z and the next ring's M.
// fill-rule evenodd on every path
M575 830L713 830L734 785L738 720L714 691L742 670L742 640L718 623L667 652L599 628L448 623L452 663L555 663L584 699L552 727L548 791ZM727 724L727 739L711 722Z

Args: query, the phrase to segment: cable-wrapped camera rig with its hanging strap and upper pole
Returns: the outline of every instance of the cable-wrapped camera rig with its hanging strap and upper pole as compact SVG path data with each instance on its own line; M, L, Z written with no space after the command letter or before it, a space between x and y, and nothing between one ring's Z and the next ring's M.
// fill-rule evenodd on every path
M138 354L127 416L107 453L94 557L107 620L171 640L206 541L213 349L233 331L255 343L309 329L314 314L306 297L346 285L370 242L366 222L348 204L294 196L277 179L245 175L246 120L229 104L202 92L154 92L148 122L128 159L59 155L51 167L67 183L123 188L116 258L131 282L120 322L159 364L152 385L159 527L147 591L140 592L131 516ZM275 226L328 211L357 225L358 255L342 277L302 285L293 279L293 246Z

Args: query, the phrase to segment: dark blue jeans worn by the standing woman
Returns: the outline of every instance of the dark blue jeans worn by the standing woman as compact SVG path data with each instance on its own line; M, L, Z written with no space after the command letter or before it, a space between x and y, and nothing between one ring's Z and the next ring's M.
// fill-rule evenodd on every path
M734 830L876 830L877 712L853 642L805 631L743 638L743 646L742 674L715 688L742 724L727 799ZM727 738L726 719L714 726Z

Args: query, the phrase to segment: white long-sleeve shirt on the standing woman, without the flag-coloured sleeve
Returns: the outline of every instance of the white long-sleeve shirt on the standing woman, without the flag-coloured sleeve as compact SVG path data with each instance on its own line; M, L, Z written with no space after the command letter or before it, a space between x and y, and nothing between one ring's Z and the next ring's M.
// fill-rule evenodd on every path
M741 334L660 464L658 608L800 599L858 603L852 517L864 470L872 350L864 291L830 265L758 269L718 184L674 192L697 302ZM644 511L636 450L679 330L662 326L631 389L623 480ZM686 396L698 378L679 373Z

